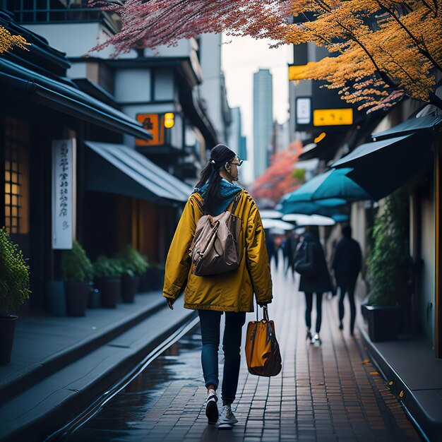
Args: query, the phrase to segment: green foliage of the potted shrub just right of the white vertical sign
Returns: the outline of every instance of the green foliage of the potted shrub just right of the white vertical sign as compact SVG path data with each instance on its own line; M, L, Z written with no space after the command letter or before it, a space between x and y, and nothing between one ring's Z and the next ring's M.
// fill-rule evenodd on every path
M72 250L63 251L61 255L61 272L66 282L92 282L92 263L76 239Z

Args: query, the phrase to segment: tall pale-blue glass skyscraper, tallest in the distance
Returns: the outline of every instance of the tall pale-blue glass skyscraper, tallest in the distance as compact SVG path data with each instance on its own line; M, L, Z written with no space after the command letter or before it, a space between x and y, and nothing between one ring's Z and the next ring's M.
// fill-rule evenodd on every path
M273 126L272 74L259 69L253 74L253 174L263 174L269 165Z

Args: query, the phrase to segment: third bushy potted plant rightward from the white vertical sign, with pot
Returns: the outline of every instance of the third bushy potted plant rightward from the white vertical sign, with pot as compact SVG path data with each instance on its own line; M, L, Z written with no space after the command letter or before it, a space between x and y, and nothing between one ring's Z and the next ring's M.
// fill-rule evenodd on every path
M135 294L138 292L140 275L147 270L148 261L139 251L133 249L130 244L120 253L119 259L123 268L121 298L124 302L133 302Z

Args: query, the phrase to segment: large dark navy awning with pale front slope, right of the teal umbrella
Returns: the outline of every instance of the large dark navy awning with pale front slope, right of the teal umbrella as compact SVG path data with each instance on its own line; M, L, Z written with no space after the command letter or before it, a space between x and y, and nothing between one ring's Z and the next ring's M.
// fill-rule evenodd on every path
M405 184L428 162L428 133L410 133L373 143L365 143L333 164L352 168L347 176L374 200L384 198Z

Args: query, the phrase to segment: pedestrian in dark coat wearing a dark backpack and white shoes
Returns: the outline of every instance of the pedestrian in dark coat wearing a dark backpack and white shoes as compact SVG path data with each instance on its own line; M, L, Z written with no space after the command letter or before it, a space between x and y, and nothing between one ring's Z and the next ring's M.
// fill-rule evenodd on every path
M312 344L321 345L322 298L324 292L330 292L332 285L328 273L324 251L319 242L317 226L306 226L294 256L294 270L301 275L299 291L304 292L306 298L306 340ZM313 293L316 294L316 328L315 335L311 335L311 310L313 309Z

